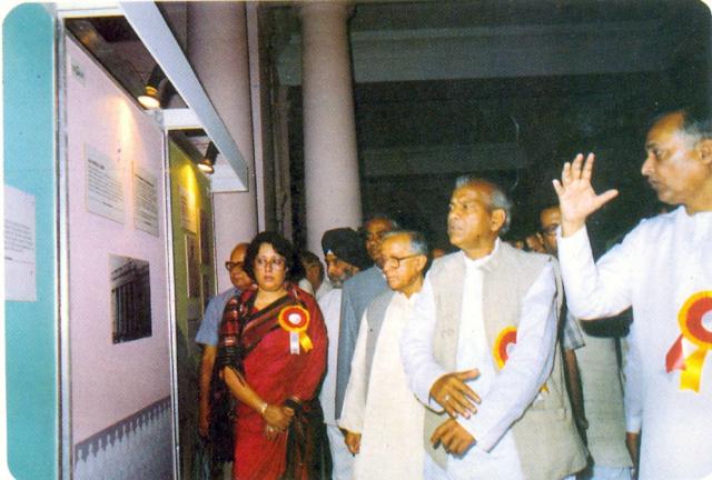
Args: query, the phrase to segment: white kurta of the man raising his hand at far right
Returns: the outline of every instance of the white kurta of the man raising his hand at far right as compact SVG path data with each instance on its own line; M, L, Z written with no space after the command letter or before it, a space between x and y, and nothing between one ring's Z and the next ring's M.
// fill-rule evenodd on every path
M643 220L595 264L585 229L560 234L558 257L577 318L633 307L625 396L627 428L643 431L641 480L711 476L712 354L699 392L681 389L681 371L666 371L666 356L682 333L682 307L695 294L712 297L712 212L689 216L681 207ZM702 312L701 327L712 336L712 310ZM683 349L688 358L698 347L683 340Z

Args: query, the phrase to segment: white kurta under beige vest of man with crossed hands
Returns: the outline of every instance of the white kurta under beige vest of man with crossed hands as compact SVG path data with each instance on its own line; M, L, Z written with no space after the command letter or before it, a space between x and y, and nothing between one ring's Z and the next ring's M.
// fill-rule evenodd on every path
M512 349L505 367L497 371L485 340L482 311L481 268L490 258L487 256L476 261L465 259L464 291L468 294L463 297L456 357L458 371L479 369L479 377L468 383L479 394L482 403L477 407L477 413L469 419L457 419L475 438L476 444L462 457L448 456L446 472L427 456L425 474L428 479L524 478L510 428L521 412L535 401L540 386L551 373L556 338L554 270L551 264L546 264L524 297L516 347ZM403 337L403 362L409 384L421 401L435 410L442 410L429 398L435 380L447 372L433 357L432 339L436 314L433 287L428 278L425 279L413 313Z

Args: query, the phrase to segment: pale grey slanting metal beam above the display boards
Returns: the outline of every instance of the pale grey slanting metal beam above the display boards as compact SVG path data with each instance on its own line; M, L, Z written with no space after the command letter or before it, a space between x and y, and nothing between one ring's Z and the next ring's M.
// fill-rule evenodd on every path
M220 156L235 171L238 190L247 191L249 182L245 157L215 110L156 3L120 2L119 7L176 91L195 112L202 129L220 151Z

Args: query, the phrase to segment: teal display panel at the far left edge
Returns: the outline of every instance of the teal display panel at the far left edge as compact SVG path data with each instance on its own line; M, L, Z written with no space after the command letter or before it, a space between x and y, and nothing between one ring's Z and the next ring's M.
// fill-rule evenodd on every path
M39 3L14 7L2 19L2 42L3 183L6 190L14 189L14 200L4 207L34 216L24 226L34 236L27 263L34 281L17 300L4 297L0 368L7 450L0 453L0 476L51 479L58 477L60 464L52 14Z

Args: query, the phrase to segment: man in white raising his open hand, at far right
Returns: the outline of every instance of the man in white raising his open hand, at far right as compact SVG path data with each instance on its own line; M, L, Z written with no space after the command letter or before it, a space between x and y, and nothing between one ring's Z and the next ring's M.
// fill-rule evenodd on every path
M712 122L691 111L661 117L642 167L657 198L680 204L643 220L597 263L589 214L614 198L591 188L593 154L554 181L560 261L568 308L596 319L633 308L626 357L629 431L641 433L640 479L712 476Z

